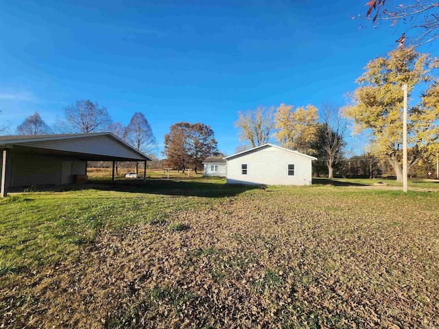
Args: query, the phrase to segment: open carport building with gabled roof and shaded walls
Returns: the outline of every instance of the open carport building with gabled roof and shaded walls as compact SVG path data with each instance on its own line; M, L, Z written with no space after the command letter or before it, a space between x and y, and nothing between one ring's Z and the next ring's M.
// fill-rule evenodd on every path
M71 184L87 161L112 161L114 173L115 161L151 160L110 132L0 136L0 151L1 197L10 187Z

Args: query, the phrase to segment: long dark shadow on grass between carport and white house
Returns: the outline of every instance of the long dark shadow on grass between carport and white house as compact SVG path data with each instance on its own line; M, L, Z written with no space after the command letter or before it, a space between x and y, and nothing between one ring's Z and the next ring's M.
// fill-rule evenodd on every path
M100 191L119 191L126 193L148 193L157 195L193 196L193 197L233 197L259 186L244 184L224 184L222 182L197 182L175 180L117 180L114 183L108 180L88 180L83 185L38 186L33 191L64 192L81 191L89 188ZM14 188L10 192L23 192L24 188Z

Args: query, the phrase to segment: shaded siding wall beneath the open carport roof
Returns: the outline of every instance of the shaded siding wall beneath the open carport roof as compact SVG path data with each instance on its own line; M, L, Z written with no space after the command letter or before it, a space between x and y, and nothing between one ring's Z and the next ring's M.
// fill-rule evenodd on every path
M73 165L73 175L86 174L85 161L63 161L45 156L12 154L12 180L10 186L58 185L72 182L72 173L62 178L62 165Z

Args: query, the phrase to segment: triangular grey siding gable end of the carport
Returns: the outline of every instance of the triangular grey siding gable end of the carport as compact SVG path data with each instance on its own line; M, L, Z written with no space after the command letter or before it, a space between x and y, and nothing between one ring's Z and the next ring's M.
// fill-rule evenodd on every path
M16 143L16 145L21 145ZM128 149L125 145L115 141L110 136L85 136L79 138L64 138L54 141L35 141L23 143L26 147L38 147L42 149L57 149L83 154L99 154L102 156L114 156L117 158L131 158L145 160L136 152Z

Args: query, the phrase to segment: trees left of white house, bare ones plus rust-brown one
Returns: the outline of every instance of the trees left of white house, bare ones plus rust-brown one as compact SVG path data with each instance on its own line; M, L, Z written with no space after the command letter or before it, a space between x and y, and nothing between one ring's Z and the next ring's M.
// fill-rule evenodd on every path
M0 134L8 132L7 125L0 126ZM16 127L16 134L45 135L60 132L63 134L91 133L109 131L135 149L155 158L157 143L150 123L141 112L135 112L128 125L112 122L104 106L89 99L81 99L63 109L63 117L50 127L38 112L27 117ZM202 161L208 156L219 155L213 130L204 123L180 122L171 125L165 134L166 166L182 170L191 168L195 173L202 168ZM118 166L116 166L116 171ZM136 164L136 173L139 163Z

